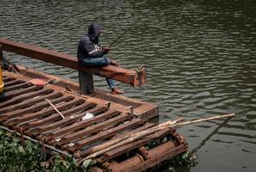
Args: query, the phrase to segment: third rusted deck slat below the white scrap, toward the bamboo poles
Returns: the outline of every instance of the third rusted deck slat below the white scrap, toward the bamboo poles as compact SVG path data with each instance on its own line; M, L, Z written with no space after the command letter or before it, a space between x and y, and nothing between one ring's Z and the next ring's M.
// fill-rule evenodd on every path
M134 126L138 126L140 124L143 124L144 121L140 120L140 119L133 119L125 124L116 126L112 129L106 130L104 132L99 132L99 134L96 134L90 138L82 138L80 141L78 141L76 144L74 144L74 146L69 146L66 145L63 148L67 149L68 151L78 151L80 150L83 146L87 145L87 144L93 144L94 142L97 142L101 139L105 139L105 138L111 138L113 135L117 134L118 132L123 132L124 130L126 130L127 128L131 128Z

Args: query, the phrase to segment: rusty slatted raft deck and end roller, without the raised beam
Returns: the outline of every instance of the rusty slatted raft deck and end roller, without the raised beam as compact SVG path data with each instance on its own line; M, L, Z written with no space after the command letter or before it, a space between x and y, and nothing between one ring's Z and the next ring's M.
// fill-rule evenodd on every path
M38 74L25 69L22 73L31 76ZM48 75L41 77L46 79L46 76ZM69 81L64 84L61 78L48 76L51 81L53 78L55 83L68 85L70 88L75 87L75 84ZM115 101L77 95L61 88L58 84L48 83L45 86L36 86L29 83L29 80L30 78L25 75L3 73L5 88L0 95L1 126L40 142L43 140L43 144L54 146L56 150L60 150L59 152L66 152L66 155L73 155L80 159L92 153L90 150L94 146L155 126L153 123L146 122L149 117L145 118L147 114L151 117L157 115L157 107L150 103L112 95L118 102L123 103L118 104ZM108 95L102 92L99 94L101 95L95 96L100 97L106 94L105 97L107 97ZM62 119L48 101L45 101L46 99L51 101L66 118ZM134 112L141 113L131 114L127 110L128 105L137 105ZM82 120L87 113L93 114L94 117ZM155 147L150 150L145 149L147 145L156 141ZM171 129L164 129L97 157L96 160L101 165L94 170L144 171L186 151L187 147L181 135Z

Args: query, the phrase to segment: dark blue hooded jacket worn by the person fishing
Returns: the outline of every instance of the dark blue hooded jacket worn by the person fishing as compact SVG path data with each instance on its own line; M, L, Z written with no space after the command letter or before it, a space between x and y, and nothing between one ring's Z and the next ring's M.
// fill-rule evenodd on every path
M84 34L79 41L77 58L81 62L84 58L99 58L106 54L99 46L99 34L102 27L97 23L92 23L88 28L88 33Z

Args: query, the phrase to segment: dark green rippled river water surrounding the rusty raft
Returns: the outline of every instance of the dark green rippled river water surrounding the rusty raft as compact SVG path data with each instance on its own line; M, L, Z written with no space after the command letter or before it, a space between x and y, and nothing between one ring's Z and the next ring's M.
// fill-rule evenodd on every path
M256 171L256 1L0 2L0 37L74 55L91 22L102 24L101 42L108 45L144 15L109 54L125 68L144 64L147 70L142 89L118 84L125 95L156 103L160 122L236 114L231 120L179 129L196 151L198 164L176 171ZM78 80L76 71L8 57L37 71ZM95 85L107 89L102 78L96 77Z

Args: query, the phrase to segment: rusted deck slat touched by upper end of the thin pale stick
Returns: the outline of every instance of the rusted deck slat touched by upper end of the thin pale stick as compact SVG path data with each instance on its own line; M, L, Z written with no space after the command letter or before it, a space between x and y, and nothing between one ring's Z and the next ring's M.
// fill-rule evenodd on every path
M17 103L8 107L0 108L0 114L8 113L10 111L14 111L19 108L25 108L25 107L35 105L36 103L42 102L44 98L52 99L52 98L60 97L62 95L60 92L57 92L57 93L53 92L52 89L44 89L44 92L46 93L46 95L41 95L36 98L29 99L27 101L22 101L20 103Z

